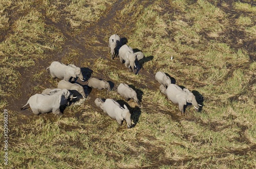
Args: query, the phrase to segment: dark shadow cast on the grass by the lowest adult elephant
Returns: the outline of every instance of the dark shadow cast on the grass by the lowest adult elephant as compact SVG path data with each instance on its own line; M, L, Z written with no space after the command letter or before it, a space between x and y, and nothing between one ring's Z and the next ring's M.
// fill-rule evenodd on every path
M131 107L128 103L126 103L123 100L117 100L116 102L119 103L122 107L123 105L127 106L127 108L130 110L131 119L133 120L134 123L133 127L135 127L139 122L139 118L141 115L141 109L139 108L139 106Z

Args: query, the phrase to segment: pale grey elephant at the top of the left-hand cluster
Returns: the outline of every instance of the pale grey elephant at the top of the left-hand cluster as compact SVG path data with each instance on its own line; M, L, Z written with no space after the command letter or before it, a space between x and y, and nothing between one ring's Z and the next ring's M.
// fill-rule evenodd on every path
M50 69L50 73L53 78L60 78L67 81L72 78L71 81L74 81L78 77L81 81L84 81L80 67L73 64L65 65L63 63L54 61L46 69Z

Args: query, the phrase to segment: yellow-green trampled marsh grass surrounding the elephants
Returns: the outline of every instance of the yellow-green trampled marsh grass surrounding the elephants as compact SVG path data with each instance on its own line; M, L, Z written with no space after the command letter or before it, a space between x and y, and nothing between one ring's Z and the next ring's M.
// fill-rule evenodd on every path
M45 70L55 59L88 67L92 77L110 80L115 86L127 83L142 100L139 108L132 100L123 101L116 91L93 89L80 105L66 107L62 118L9 108L8 167L255 167L256 64L250 44L242 45L255 34L254 6L217 5L219 1L4 2L0 5L0 30L6 31L0 43L1 108L10 104L5 97L25 100L20 98L22 78L31 84L26 97L57 86L59 80ZM237 17L225 10L227 6L246 15ZM118 10L109 14L112 7ZM18 17L9 10L16 10ZM113 25L106 24L104 17ZM97 23L99 19L105 25ZM239 38L232 35L236 31L242 32ZM110 59L107 46L113 32L145 54L139 75L129 73L118 58ZM38 65L38 60L47 66ZM34 74L23 77L28 70ZM157 71L202 94L202 111L190 107L181 114L159 91ZM96 97L129 105L136 126L127 129L125 122L118 126L96 108Z

